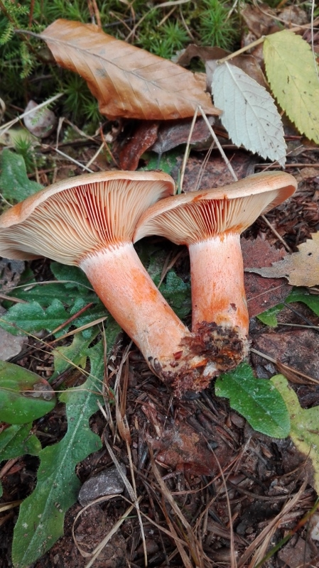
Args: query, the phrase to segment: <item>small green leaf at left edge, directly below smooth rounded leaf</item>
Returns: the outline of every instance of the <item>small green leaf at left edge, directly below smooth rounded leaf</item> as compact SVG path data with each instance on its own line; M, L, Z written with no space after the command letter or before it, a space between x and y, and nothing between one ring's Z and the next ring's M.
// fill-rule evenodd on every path
M13 424L0 434L0 461L24 454L37 456L41 449L38 438L31 434L32 423Z

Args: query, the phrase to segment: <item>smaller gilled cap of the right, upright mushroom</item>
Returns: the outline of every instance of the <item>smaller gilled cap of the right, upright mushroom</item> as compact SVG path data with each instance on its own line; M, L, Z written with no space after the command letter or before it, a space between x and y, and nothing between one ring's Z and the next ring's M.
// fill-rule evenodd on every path
M167 197L141 216L134 242L156 234L190 245L226 231L242 233L260 214L293 195L296 187L288 173L264 172L224 187Z

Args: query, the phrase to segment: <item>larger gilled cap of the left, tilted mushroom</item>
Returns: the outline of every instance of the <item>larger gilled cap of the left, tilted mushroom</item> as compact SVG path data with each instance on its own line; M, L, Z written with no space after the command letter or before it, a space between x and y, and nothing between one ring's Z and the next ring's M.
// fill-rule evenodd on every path
M31 260L48 256L65 264L133 238L141 214L173 195L170 175L101 172L60 181L0 217L0 255Z

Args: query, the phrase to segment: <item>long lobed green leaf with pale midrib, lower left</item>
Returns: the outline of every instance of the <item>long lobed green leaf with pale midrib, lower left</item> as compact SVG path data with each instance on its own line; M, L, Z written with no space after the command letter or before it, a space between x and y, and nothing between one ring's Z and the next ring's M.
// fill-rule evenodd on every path
M36 562L63 535L65 513L80 489L75 466L101 447L99 436L90 430L89 419L97 410L103 381L102 342L88 349L87 356L91 361L87 381L60 395L66 405L67 433L58 444L41 450L36 489L21 504L13 533L15 568Z

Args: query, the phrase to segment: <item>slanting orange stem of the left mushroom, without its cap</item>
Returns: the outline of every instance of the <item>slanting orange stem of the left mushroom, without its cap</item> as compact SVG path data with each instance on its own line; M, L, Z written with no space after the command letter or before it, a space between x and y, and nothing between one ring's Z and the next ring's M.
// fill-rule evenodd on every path
M202 372L207 359L193 350L193 334L164 300L133 244L92 253L79 266L158 377L175 388L178 378L185 383L184 375L196 379L197 368Z

